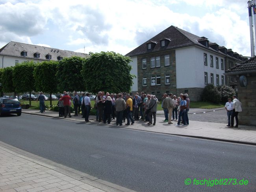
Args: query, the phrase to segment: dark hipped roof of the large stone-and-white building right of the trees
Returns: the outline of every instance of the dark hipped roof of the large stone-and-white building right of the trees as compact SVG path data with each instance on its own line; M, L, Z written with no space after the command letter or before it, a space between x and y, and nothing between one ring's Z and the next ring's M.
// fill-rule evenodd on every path
M153 49L148 50L146 44L150 41L156 41L160 42L163 39L170 39L171 41L168 43L167 46L161 47L160 43L157 43L156 46ZM164 50L171 50L176 48L182 48L187 46L193 46L197 45L203 48L206 48L208 50L211 50L213 52L217 52L218 54L221 54L223 56L230 57L232 59L236 59L234 57L231 57L229 55L223 54L221 51L216 51L213 48L206 47L202 45L200 42L201 40L208 40L206 37L199 37L197 35L194 35L192 33L189 33L187 31L184 31L178 27L170 26L169 28L163 30L162 32L158 33L156 36L152 37L148 41L144 42L128 54L126 56L133 57L137 55L143 55L143 54L149 54L152 52L159 52ZM209 44L213 44L213 42L209 41Z

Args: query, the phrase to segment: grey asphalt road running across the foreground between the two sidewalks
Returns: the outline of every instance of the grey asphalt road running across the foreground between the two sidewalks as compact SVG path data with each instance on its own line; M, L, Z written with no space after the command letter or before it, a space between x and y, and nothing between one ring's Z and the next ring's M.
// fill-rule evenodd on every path
M29 114L1 117L0 140L138 192L256 191L255 146ZM185 185L187 178L248 185Z

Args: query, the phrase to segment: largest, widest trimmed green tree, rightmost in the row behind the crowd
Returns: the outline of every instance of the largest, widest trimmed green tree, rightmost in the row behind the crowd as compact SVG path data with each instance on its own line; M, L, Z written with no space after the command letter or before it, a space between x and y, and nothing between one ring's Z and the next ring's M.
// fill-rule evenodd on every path
M82 70L86 90L93 93L100 90L130 92L132 79L135 77L130 74L130 61L130 57L115 52L90 53Z

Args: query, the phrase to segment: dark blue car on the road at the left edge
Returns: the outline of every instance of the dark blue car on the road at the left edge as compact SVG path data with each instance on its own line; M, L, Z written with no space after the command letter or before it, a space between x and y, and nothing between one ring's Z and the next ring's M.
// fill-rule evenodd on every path
M13 113L16 113L18 116L21 115L21 105L19 100L16 98L0 98L0 116L2 116L2 114Z

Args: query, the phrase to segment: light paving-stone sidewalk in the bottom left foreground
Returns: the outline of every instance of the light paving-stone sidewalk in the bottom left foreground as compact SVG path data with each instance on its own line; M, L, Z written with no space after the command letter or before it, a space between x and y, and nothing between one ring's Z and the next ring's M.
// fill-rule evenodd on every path
M0 191L135 192L3 142L0 142Z

